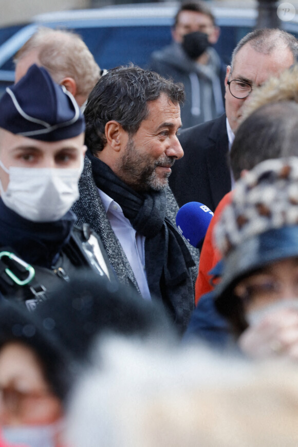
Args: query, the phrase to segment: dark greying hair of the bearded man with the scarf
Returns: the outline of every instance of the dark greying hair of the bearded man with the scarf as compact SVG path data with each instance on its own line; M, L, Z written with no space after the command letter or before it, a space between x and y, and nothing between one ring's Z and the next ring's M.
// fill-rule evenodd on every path
M106 144L104 129L108 121L117 121L125 132L134 135L147 117L147 102L162 93L175 104L184 101L183 85L154 71L134 65L109 70L91 91L84 112L85 144L92 154L102 151Z

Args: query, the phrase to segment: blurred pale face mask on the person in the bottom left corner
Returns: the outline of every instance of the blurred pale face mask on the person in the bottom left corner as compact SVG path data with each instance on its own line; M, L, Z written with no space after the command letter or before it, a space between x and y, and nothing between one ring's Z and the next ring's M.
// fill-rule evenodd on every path
M3 439L26 447L55 447L55 438L61 432L61 422L50 425L2 426Z

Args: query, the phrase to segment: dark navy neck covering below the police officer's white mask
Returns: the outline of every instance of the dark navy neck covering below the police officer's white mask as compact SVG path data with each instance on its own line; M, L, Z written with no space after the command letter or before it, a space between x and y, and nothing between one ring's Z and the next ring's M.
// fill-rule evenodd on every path
M50 268L68 242L76 216L55 222L32 222L6 207L0 198L0 247L10 247L29 264Z

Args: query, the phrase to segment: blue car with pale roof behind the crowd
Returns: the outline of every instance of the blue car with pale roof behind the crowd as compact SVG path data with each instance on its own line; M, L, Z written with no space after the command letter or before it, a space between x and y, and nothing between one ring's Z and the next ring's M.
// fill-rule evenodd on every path
M237 42L255 25L253 8L226 7L209 2L221 35L216 50L229 64ZM146 3L41 14L26 26L0 28L0 89L14 81L13 56L36 28L71 29L80 34L101 68L133 62L146 67L153 51L171 42L171 26L178 3ZM298 35L298 23L285 22ZM0 92L1 93L1 92Z

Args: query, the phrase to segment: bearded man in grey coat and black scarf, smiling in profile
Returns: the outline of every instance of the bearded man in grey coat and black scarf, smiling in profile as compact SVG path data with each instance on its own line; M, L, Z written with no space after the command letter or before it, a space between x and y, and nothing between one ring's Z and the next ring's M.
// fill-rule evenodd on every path
M72 207L101 237L119 281L160 301L181 331L194 308L199 255L178 232L168 185L183 156L183 98L181 84L153 71L109 70L86 105L88 151Z

